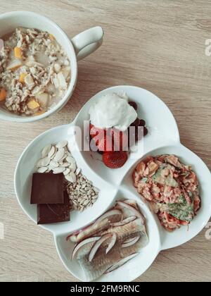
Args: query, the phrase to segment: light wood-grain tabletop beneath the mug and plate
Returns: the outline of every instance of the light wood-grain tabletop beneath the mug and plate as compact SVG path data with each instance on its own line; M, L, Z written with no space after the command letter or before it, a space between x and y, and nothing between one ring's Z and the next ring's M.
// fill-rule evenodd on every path
M96 92L137 85L154 92L174 113L181 141L211 168L211 3L207 0L2 1L0 13L28 10L54 20L73 37L95 25L105 30L101 49L79 62L72 99L58 114L32 124L0 122L0 281L76 281L58 258L50 233L18 206L13 172L25 146L44 130L68 123ZM139 281L210 281L211 240L205 230L162 252Z

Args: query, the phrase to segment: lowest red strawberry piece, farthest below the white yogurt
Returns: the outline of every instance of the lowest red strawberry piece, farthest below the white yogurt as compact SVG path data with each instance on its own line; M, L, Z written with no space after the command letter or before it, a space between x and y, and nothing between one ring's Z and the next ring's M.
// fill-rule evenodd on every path
M120 168L126 161L127 153L124 151L103 153L103 163L108 166L108 168Z

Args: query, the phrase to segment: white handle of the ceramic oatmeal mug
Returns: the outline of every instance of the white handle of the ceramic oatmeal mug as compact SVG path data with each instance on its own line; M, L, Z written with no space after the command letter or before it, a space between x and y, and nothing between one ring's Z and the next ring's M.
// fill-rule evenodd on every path
M101 27L91 27L91 29L79 33L72 38L75 47L77 60L81 60L96 51L103 43L103 29Z

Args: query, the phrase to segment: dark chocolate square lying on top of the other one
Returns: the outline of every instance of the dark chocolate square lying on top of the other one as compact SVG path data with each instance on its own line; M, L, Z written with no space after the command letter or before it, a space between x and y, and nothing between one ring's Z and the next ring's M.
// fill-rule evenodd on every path
M31 204L63 204L63 173L34 173Z

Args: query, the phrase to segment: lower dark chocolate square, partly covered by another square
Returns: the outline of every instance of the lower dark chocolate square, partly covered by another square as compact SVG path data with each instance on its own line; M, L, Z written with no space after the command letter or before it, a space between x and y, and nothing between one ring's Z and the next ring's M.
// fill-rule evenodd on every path
M70 199L64 192L64 204L37 204L37 224L70 221Z

